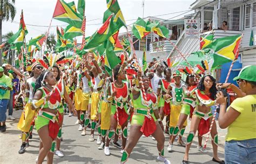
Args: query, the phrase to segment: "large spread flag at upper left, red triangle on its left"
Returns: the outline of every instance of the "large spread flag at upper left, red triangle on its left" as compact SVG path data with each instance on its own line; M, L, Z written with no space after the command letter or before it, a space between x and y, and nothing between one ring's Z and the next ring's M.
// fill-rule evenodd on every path
M83 22L83 15L74 11L71 6L63 0L57 0L53 18L62 22L69 23L76 28L81 28Z

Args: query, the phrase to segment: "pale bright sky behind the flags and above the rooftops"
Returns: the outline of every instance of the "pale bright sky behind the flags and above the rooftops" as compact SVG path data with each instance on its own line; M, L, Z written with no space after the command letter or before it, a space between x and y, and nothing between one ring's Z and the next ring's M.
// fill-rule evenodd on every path
M72 0L65 0L71 2ZM74 0L76 5L78 0ZM19 18L23 9L24 22L28 29L26 40L35 38L45 31L48 31L53 11L57 0L16 0L16 16L14 22L9 20L3 22L3 35L10 31L17 32L19 28ZM158 18L169 19L180 15L184 11L190 10L190 4L194 0L145 0L144 1L144 17L157 16ZM123 12L127 25L136 21L138 17L143 17L143 0L119 0L119 6ZM107 9L106 0L85 0L85 16L86 28L85 35L91 36L102 25L103 13ZM179 13L173 13L179 12ZM170 13L170 14L169 14ZM185 15L193 13L193 11L185 13ZM168 14L168 15L165 15ZM158 16L164 15L164 16ZM178 19L184 15L172 19ZM133 19L133 20L131 20ZM171 19L170 19L171 20ZM65 22L52 19L50 32L56 34L56 26L65 28ZM80 38L78 39L81 40Z

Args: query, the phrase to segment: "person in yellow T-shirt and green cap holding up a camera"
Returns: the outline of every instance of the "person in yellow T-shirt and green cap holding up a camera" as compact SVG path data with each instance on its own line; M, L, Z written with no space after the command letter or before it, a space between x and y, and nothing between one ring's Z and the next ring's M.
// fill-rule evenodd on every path
M237 77L239 88L230 83L218 84L231 88L236 94L226 111L223 92L217 93L220 105L219 126L228 128L225 144L226 163L256 162L256 65L244 67Z

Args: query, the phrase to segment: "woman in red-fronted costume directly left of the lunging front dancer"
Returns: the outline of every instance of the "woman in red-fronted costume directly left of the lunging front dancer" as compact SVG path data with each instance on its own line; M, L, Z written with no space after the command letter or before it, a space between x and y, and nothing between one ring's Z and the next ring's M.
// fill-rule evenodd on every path
M104 148L105 155L110 155L109 143L114 135L117 125L122 127L122 149L121 153L124 151L127 138L127 124L128 124L128 114L127 114L127 100L129 97L129 84L123 82L126 79L125 72L122 66L117 65L113 69L113 83L111 83L107 101L112 102L111 106L111 126L109 134L107 135L107 141Z

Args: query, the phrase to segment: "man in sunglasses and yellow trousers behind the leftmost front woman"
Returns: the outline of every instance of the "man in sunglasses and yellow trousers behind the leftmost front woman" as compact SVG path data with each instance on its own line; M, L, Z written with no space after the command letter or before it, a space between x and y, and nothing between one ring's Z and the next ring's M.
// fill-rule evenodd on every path
M18 129L22 131L22 145L19 149L18 153L23 154L25 153L25 148L29 147L29 132L31 127L31 123L33 119L36 117L36 112L32 110L31 103L33 99L33 90L35 88L36 79L40 76L43 70L43 66L36 61L30 66L32 71L31 76L29 79L26 80L25 84L25 108L24 112L21 114L21 118L18 122ZM28 69L29 70L29 69ZM32 132L32 131L31 131Z

